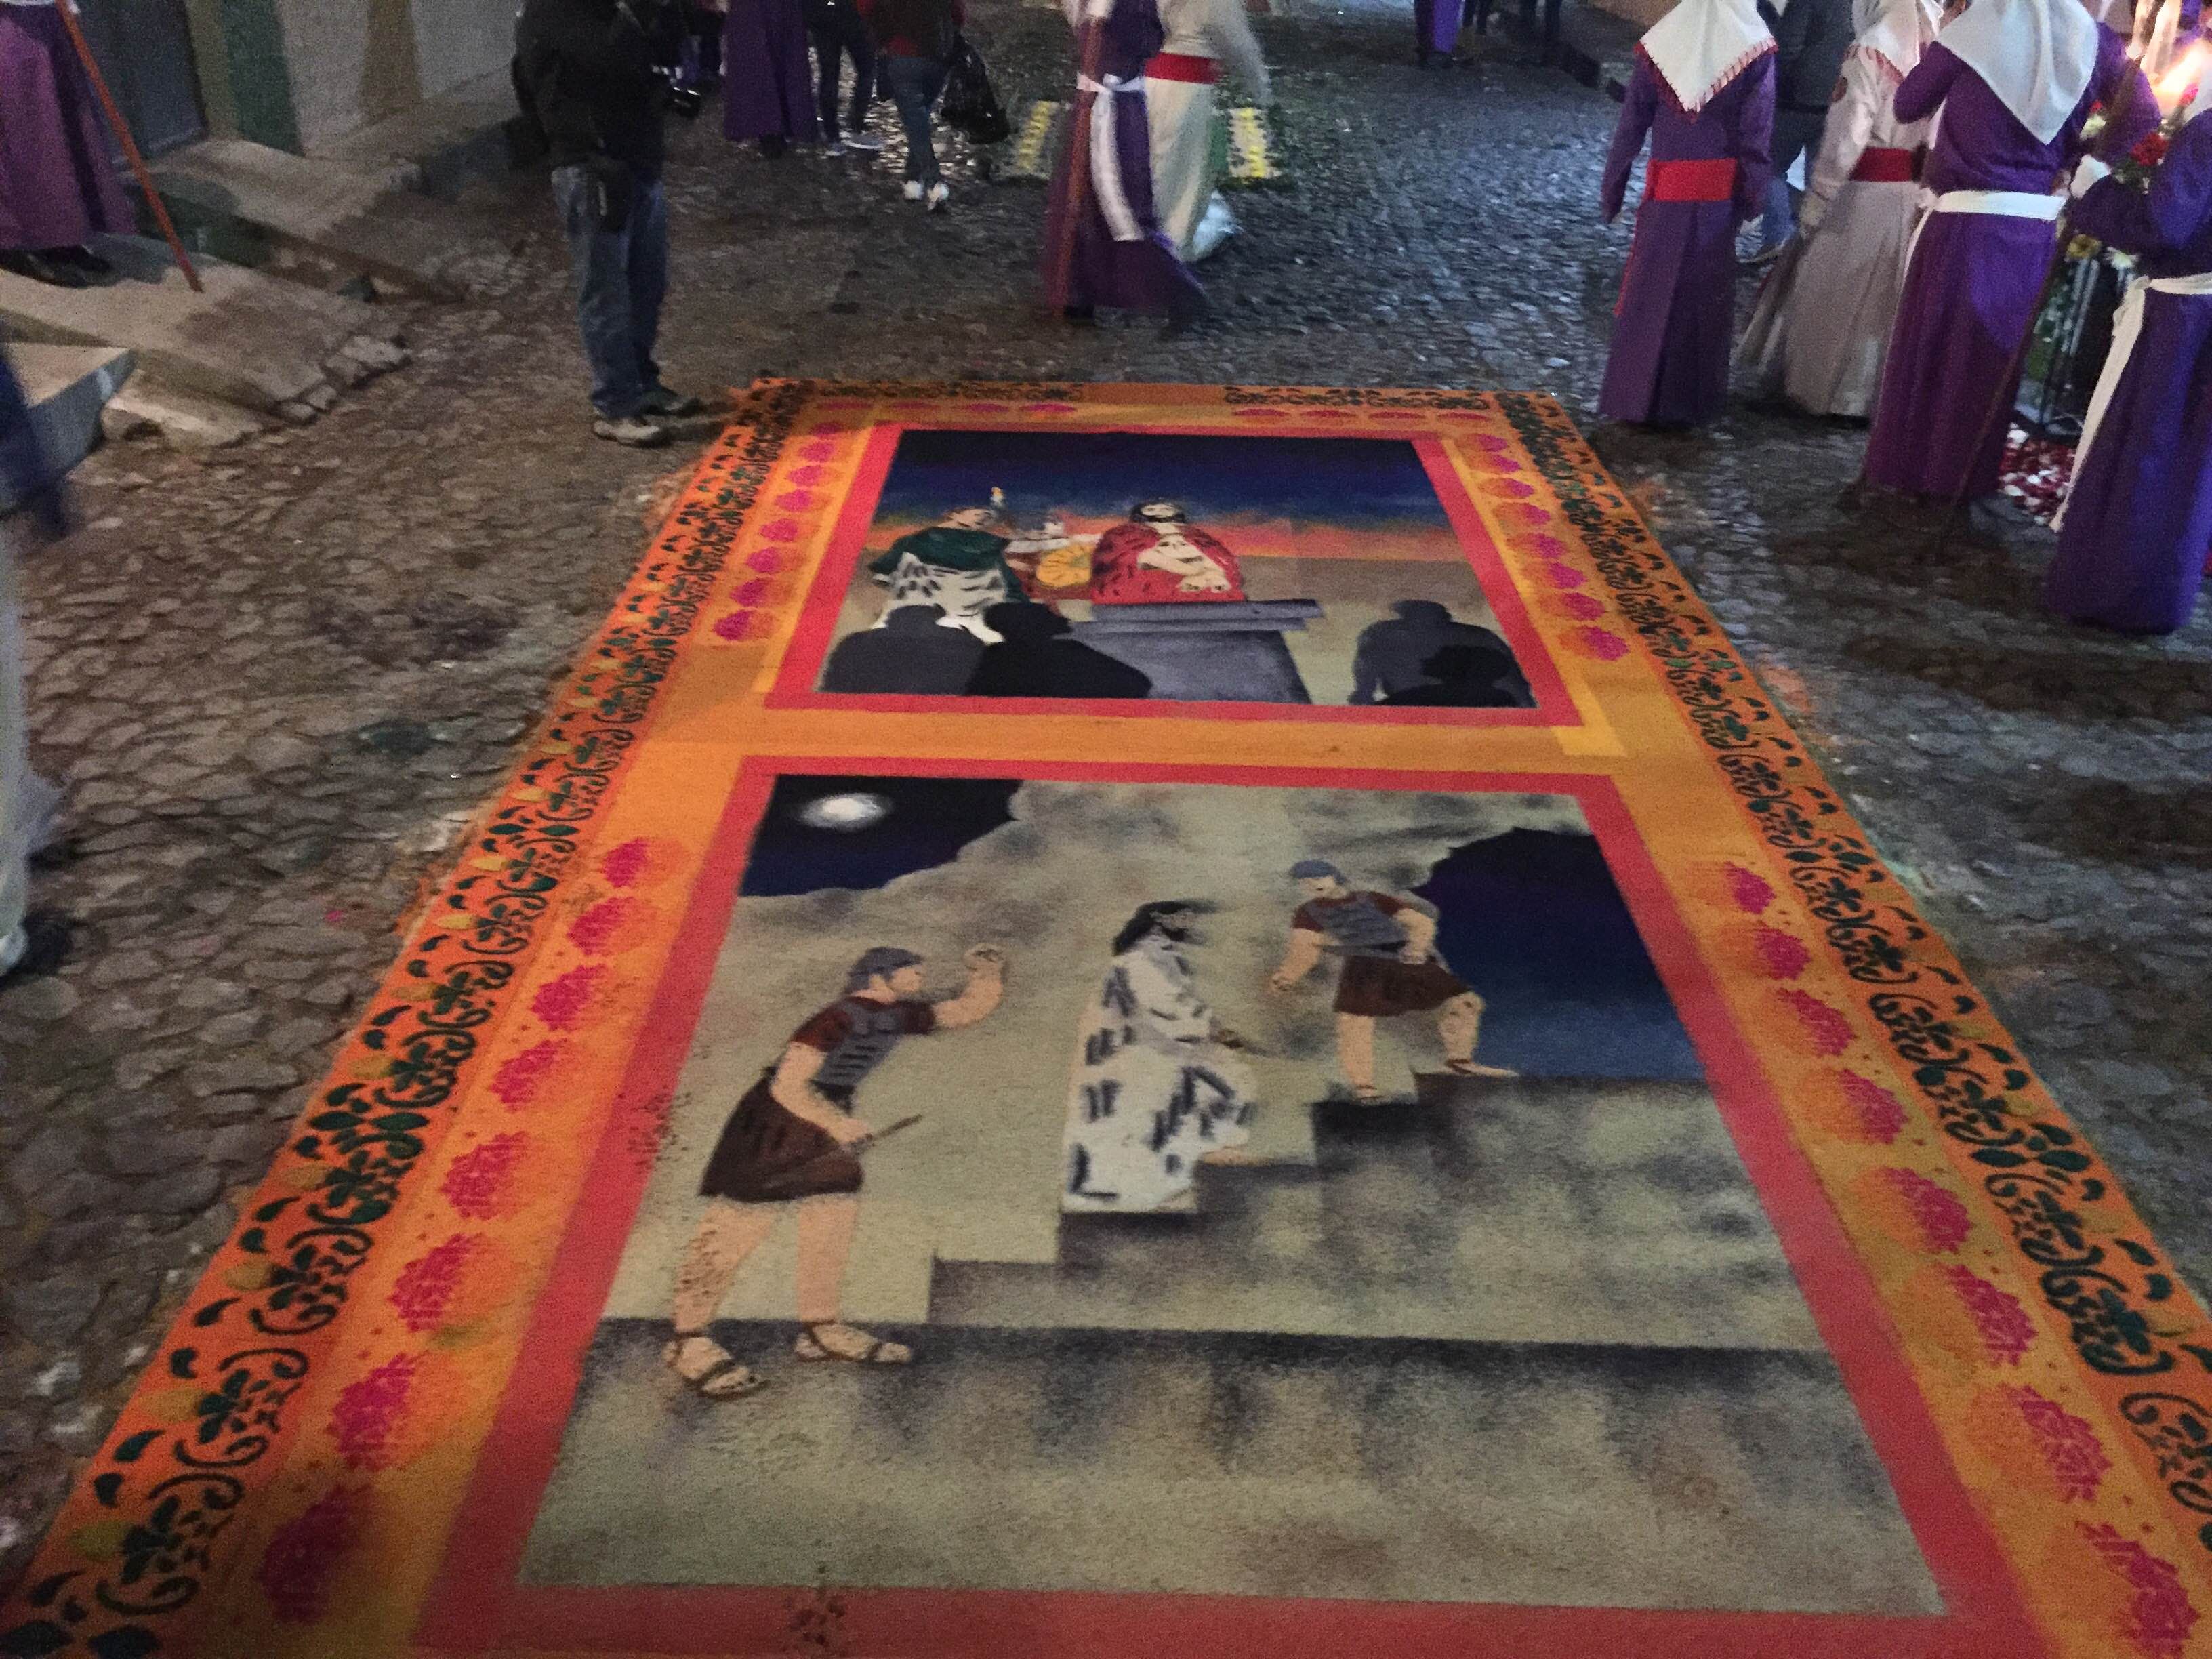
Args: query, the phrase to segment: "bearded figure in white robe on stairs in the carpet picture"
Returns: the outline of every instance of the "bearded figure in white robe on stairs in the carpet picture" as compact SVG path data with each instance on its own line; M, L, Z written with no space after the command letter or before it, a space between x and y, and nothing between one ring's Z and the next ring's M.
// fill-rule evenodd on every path
M1144 911L1130 927L1141 925ZM1186 940L1172 918L1148 927L1113 958L1084 1013L1062 1210L1168 1208L1190 1192L1199 1159L1250 1137L1252 1071L1223 1046Z

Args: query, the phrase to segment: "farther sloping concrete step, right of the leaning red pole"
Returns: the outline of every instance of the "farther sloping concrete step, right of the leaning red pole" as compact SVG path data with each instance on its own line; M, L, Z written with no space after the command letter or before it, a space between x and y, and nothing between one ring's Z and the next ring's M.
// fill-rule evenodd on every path
M431 299L504 292L520 265L491 223L394 184L392 168L204 139L155 166L184 234L310 288L361 276Z

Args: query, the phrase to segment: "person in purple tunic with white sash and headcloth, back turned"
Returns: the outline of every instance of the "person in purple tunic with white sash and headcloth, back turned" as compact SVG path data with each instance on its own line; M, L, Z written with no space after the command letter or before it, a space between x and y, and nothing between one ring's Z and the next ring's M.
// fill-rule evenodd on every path
M2104 146L2132 148L2159 119L2126 42L2081 0L1975 0L1898 86L1900 122L1938 108L1942 122L1922 175L1933 208L1874 409L1869 484L1938 500L1995 493L2004 411L2066 204L2053 186L2079 159L2097 104Z

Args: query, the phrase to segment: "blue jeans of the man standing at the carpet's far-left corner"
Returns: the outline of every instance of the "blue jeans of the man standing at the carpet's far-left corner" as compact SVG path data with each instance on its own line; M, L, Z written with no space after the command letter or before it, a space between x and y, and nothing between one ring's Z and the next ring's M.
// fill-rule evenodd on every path
M668 296L668 192L659 179L630 175L630 221L606 230L584 166L553 168L553 201L568 232L575 319L591 361L591 407L606 420L644 411L661 383L653 345Z

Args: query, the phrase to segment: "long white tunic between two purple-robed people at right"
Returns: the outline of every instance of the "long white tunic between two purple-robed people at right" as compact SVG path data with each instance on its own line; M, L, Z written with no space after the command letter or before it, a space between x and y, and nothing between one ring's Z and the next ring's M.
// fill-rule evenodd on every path
M1803 237L1776 265L1741 358L1765 394L1783 394L1812 414L1874 411L1882 356L1905 296L1905 265L1920 219L1920 186L1863 181L1851 170L1867 150L1918 150L1927 122L1900 122L1896 66L1854 46L1843 62L1820 155L1801 212Z

